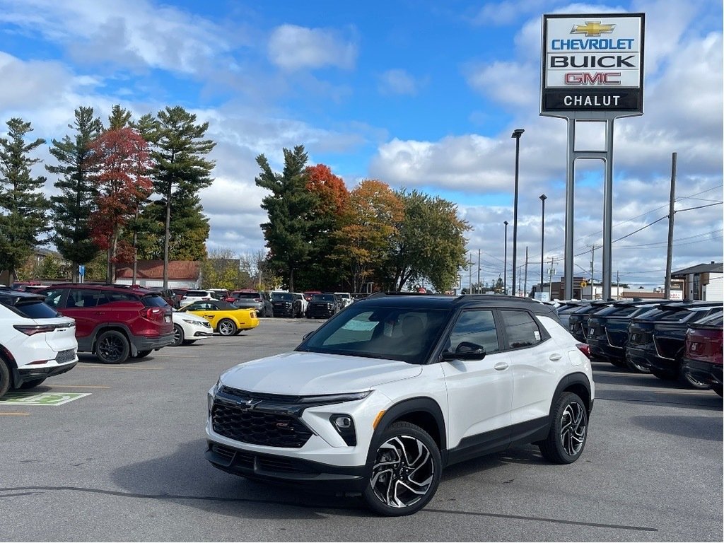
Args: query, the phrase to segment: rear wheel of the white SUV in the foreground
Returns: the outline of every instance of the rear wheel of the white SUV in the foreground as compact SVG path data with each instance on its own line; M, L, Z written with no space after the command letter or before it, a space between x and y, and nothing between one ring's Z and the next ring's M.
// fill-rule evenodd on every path
M557 464L570 464L578 460L588 437L588 412L581 397L563 392L552 409L548 437L538 448L547 460Z

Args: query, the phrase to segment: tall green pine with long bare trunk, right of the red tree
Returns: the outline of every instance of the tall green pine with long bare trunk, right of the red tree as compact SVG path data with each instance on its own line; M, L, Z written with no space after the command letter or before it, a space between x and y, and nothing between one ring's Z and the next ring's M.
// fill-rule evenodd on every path
M193 198L202 188L211 185L214 162L204 159L216 146L212 140L203 139L209 123L196 123L195 114L181 106L167 107L159 111L156 123L142 117L140 130L151 142L153 161L153 190L164 200L164 288L169 282L169 248L172 245L171 219L174 196L180 200ZM150 132L146 133L146 126Z

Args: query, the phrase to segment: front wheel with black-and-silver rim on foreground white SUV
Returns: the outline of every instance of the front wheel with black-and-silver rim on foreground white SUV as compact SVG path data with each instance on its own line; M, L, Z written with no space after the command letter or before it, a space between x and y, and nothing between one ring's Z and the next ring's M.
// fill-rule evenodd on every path
M412 515L427 505L442 473L440 451L419 426L395 422L382 432L374 453L366 504L384 516Z

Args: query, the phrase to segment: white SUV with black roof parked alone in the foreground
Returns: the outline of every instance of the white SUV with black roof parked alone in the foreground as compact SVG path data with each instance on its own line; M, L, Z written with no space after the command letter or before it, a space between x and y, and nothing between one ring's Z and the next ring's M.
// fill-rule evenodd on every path
M593 402L589 359L551 306L372 295L294 352L224 372L209 390L206 458L408 515L460 460L535 443L548 460L573 462Z

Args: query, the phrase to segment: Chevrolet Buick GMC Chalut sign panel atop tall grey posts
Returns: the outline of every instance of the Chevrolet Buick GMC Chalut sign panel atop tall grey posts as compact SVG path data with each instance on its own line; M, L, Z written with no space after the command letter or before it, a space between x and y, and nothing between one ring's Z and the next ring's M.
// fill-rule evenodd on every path
M543 16L541 114L644 112L644 14Z

